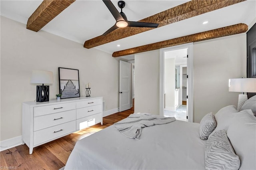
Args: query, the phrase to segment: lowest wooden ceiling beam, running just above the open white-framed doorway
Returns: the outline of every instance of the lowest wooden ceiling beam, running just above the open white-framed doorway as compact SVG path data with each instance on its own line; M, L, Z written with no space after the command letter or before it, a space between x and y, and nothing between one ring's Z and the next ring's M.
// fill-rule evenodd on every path
M162 42L151 43L148 45L142 45L139 47L125 49L122 51L116 51L112 54L112 56L120 57L120 56L124 56L124 55L130 55L130 54L165 48L165 47L171 47L174 45L180 45L180 44L191 43L191 42L199 42L199 41L209 40L209 39L213 39L213 38L219 38L219 37L230 36L230 35L234 35L234 34L240 34L240 33L246 32L247 30L248 30L248 26L246 24L236 24L236 25L232 25L232 26L218 28L215 30L200 32L198 34L192 34L189 36L183 36L180 38L174 38L174 39L166 40L166 41L162 41Z

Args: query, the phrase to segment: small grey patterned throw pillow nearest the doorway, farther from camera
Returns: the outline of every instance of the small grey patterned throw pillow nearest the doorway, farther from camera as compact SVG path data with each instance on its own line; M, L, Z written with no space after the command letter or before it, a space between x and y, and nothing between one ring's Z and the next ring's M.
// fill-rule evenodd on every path
M216 128L216 121L214 115L211 113L206 114L200 122L199 136L200 139L208 139L209 134Z

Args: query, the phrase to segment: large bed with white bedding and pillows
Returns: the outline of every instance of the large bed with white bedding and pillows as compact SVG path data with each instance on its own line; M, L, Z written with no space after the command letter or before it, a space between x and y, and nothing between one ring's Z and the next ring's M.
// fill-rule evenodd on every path
M229 138L231 148L234 148L234 155L238 155L238 168L256 169L256 117L252 111L238 112L236 107L227 106L220 109L215 118L217 127L212 133L216 131L217 134L222 130L227 134L226 138ZM210 141L209 138L214 139L215 133L211 133L212 137L208 140L202 140L199 133L201 124L202 121L199 124L176 120L146 127L139 140L127 138L112 125L79 140L68 158L65 170L214 169L211 165L210 168L206 167L205 162L208 152L212 152L212 144L208 144L210 148L207 151L207 142ZM222 144L216 142L217 145L219 143ZM226 159L226 155L221 155L220 159ZM231 161L233 159L234 157ZM223 167L238 169L230 167L232 164L235 163L231 162L230 165L229 162L225 165L226 168Z

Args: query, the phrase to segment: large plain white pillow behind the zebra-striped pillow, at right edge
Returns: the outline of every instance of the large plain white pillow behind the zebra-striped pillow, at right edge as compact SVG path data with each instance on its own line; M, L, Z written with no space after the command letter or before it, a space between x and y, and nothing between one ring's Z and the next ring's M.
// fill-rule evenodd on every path
M239 156L240 170L256 169L256 117L251 110L236 114L228 127L228 138Z

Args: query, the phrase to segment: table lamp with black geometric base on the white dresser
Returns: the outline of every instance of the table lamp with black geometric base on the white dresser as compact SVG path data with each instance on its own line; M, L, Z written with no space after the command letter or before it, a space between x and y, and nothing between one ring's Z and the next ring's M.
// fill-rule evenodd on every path
M44 84L52 84L52 71L32 71L30 83L43 84L36 86L36 102L49 101L49 86Z

